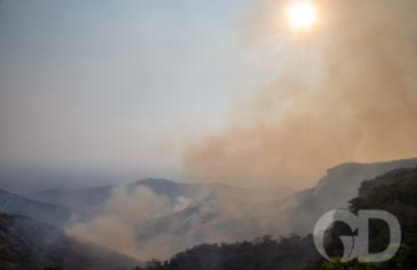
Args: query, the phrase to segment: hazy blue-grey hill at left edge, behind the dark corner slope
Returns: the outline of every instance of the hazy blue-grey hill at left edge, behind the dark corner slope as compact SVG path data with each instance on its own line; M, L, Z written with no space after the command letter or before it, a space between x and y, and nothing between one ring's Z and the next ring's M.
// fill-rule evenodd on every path
M68 207L36 201L1 189L0 212L30 216L57 227L82 216Z

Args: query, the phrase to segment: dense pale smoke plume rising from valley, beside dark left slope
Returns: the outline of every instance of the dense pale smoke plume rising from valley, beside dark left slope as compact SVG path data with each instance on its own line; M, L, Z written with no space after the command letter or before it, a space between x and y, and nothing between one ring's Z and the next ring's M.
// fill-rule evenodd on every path
M141 242L138 234L143 232L148 220L182 210L190 203L189 198L171 199L157 195L143 186L133 191L125 186L117 186L106 201L103 213L67 228L66 232L79 240L105 246L138 259L165 258L173 253L171 243L174 241L170 235Z

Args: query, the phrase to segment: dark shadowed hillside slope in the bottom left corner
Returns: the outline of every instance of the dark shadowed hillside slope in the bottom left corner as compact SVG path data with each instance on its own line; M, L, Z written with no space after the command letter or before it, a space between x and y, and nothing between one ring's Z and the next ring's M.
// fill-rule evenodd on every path
M140 262L66 236L32 218L0 213L0 269L131 270Z

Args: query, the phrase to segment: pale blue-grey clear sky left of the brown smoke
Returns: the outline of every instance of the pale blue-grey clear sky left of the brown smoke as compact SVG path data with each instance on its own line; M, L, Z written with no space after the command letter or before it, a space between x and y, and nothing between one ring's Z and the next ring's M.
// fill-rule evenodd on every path
M0 1L0 165L174 175L262 75L241 42L250 4Z

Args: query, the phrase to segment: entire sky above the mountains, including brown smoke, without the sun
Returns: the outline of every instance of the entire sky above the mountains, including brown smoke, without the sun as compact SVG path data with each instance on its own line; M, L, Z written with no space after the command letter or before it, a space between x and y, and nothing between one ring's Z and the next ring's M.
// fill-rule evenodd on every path
M305 188L417 156L417 2L299 30L294 1L0 1L0 168Z

